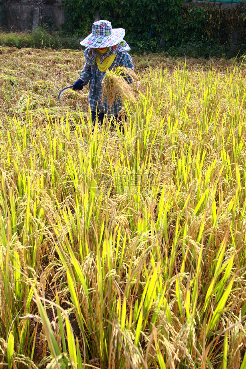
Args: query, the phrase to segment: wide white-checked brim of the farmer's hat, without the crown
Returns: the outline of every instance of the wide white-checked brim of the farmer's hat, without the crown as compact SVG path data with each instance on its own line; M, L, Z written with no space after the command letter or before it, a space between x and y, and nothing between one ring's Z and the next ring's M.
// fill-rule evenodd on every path
M80 45L90 47L90 48L101 48L117 45L125 36L124 28L112 28L112 33L109 36L98 37L92 33L87 36Z

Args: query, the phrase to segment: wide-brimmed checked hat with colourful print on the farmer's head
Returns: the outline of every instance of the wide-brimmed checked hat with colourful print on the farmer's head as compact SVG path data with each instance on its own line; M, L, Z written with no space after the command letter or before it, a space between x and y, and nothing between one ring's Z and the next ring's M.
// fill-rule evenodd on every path
M90 48L101 48L117 45L125 36L124 28L112 28L109 21L98 21L93 23L92 32L81 45Z

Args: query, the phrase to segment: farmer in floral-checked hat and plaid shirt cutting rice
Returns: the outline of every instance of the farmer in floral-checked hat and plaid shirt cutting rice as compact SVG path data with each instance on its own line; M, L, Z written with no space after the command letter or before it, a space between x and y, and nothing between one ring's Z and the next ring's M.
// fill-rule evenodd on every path
M130 48L123 39L124 35L124 28L112 28L109 21L101 20L93 23L92 33L80 42L81 45L87 46L84 50L86 63L79 79L73 84L73 90L82 90L83 83L90 81L88 104L93 127L96 116L102 124L106 113L114 115L118 122L121 121L118 117L122 107L121 101L117 99L111 110L107 99L102 101L102 80L107 69L111 70L118 66L134 69L132 58L127 52ZM130 77L124 78L128 83L132 82Z

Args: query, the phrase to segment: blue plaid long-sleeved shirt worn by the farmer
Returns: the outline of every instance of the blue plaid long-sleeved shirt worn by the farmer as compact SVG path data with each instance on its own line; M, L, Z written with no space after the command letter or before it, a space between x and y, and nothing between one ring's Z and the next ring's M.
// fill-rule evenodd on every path
M127 51L119 52L108 70L111 70L112 68L114 68L114 66L124 66L126 68L134 70L132 58ZM119 99L117 99L117 101L114 103L111 111L109 110L107 99L105 98L105 101L102 101L102 81L105 73L106 72L100 72L97 63L92 64L89 68L85 65L79 78L82 79L85 83L88 83L90 81L88 104L90 105L91 111L97 111L98 113L109 112L113 115L118 115L122 108ZM126 77L125 79L127 80ZM128 77L128 79L129 83L131 83L131 78Z

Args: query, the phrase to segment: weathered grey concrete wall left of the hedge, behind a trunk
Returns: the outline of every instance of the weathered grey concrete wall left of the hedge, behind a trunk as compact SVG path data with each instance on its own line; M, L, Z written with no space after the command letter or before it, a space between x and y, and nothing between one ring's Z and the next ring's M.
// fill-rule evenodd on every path
M64 23L64 0L44 0L40 1L40 21L39 24L46 23L49 27L60 29ZM0 27L11 30L31 30L34 6L38 0L3 0L0 5Z

